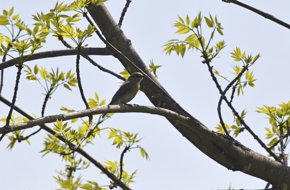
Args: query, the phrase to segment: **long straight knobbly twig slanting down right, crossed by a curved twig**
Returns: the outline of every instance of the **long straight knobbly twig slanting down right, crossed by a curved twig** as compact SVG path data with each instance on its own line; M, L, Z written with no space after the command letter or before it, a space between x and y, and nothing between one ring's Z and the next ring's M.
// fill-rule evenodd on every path
M215 82L216 87L218 88L220 94L222 94L222 88L220 87L217 78L215 77L215 75L213 74L212 68L209 64L209 61L205 60L206 65L208 66L209 72L211 74L211 77L213 79L213 81ZM235 114L235 116L238 118L238 120L242 123L242 125L245 127L246 130L248 130L250 132L250 134L254 137L254 139L256 139L258 141L258 143L277 161L282 163L281 159L278 158L277 155L275 155L275 153L273 153L271 151L271 149L269 149L266 144L263 143L263 141L257 136L255 135L255 133L250 129L250 127L244 122L244 120L240 117L239 113L234 109L234 107L232 106L232 104L228 101L228 99L226 98L226 96L224 96L224 101L227 103L227 105L231 108L231 110L233 111L233 113Z

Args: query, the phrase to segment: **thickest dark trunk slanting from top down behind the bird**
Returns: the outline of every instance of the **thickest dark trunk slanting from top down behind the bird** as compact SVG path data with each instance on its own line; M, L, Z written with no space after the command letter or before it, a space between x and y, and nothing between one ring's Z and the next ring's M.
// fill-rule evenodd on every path
M129 60L135 63L138 68L142 69L152 80L154 80L156 84L160 85L158 81L154 78L154 76L150 73L146 64L144 64L142 59L133 48L131 41L127 39L123 31L120 29L118 24L110 15L108 10L106 9L106 6L104 6L104 4L102 4L101 6L93 6L91 4L88 4L88 9L90 15L96 22L100 31L102 31L102 34L104 35L106 40L110 42L110 44L112 44L116 49L118 49L118 51L122 52L122 54L124 54L124 56L126 56ZM121 56L114 56L116 56L120 60L120 62L129 71L129 73L138 71ZM153 105L172 110L178 114L187 116L189 118L192 117L188 112L180 107L180 105L178 105L176 101L174 101L172 98L168 98L168 96L164 96L164 93L153 83L150 83L147 78L144 78L142 80L140 87L141 90L146 94L148 99L153 103ZM163 88L161 85L160 87ZM260 154L251 154L252 151L248 152L247 150L249 149L245 147L243 148L243 151L241 150L241 152L243 152L244 154L234 155L234 150L225 150L224 147L212 141L208 136L202 135L193 129L189 129L185 125L176 122L173 119L170 119L168 117L167 119L186 139L188 139L198 149L200 149L207 156L209 156L219 164L225 166L226 168L232 169L234 171L240 170L248 174L251 173L249 175L254 176L263 175L263 177L261 176L258 178L269 181L271 182L271 184L279 184L280 182L283 182L283 180L281 180L282 178L285 179L285 175L281 175L280 171L275 169L276 164L280 167L282 165L281 163L266 158L264 156L261 157ZM197 122L195 124L196 129L203 126L200 122ZM251 157L248 157L248 159L241 159L240 156L248 154L251 154ZM267 161L264 158L266 158ZM251 166L249 166L249 160L251 162ZM255 164L253 164L253 160L256 162ZM267 171L264 170L266 165L261 165L261 162L258 162L258 160L263 160L262 163L269 161L267 164ZM285 167L285 169L287 168L286 166L283 167ZM255 171L252 169L255 169ZM266 177L267 173L269 174L269 171L271 171L271 177ZM288 187L290 187L290 182Z

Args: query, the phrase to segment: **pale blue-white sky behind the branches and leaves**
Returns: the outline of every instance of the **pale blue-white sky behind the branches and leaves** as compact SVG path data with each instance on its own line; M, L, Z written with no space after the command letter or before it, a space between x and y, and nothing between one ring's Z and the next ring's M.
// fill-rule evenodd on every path
M1 4L1 9L10 10L14 6L14 14L20 14L26 24L32 25L35 21L31 15L43 11L48 13L54 8L57 1L40 3L35 0L6 1ZM61 1L60 1L61 2ZM64 1L70 3L71 1ZM288 8L289 1L269 0L243 1L249 5L267 12L278 19L290 22ZM113 18L118 22L124 8L125 0L109 0L105 3ZM254 12L246 10L233 3L224 3L221 0L204 1L132 1L124 17L121 29L142 60L149 65L150 60L157 65L158 80L166 91L187 112L204 123L210 130L215 130L219 123L217 105L220 98L214 82L211 80L206 65L202 64L200 53L188 51L184 58L174 52L169 56L162 50L165 42L171 39L184 39L186 36L174 34L176 29L172 27L175 20L186 15L191 20L201 11L202 15L209 17L209 12L217 16L218 21L224 28L224 36L215 34L213 42L226 41L226 47L221 51L220 58L213 60L213 67L228 79L233 79L232 67L240 62L233 61L231 54L233 49L240 47L241 51L261 54L261 57L250 67L253 70L255 87L247 86L244 96L235 96L233 105L238 112L246 109L246 123L267 144L265 139L265 127L270 127L266 115L255 112L256 107L263 105L278 106L281 101L289 101L289 64L287 59L288 44L290 41L289 30ZM71 13L75 14L75 13ZM80 21L79 28L86 28L88 23ZM7 34L5 27L0 27L0 33ZM206 39L211 30L203 23L203 34ZM49 35L44 47L37 52L54 49L65 49L55 37ZM67 40L72 46L72 41ZM88 47L104 47L104 44L96 37L86 41ZM98 64L119 73L123 71L122 64L110 56L91 56ZM75 71L75 56L47 58L27 63L29 67L38 66L67 72ZM100 99L106 99L107 103L117 91L121 82L119 79L104 73L81 58L81 80L86 98L94 98L97 92ZM4 87L2 96L12 99L14 81L17 69L10 67L4 72ZM226 80L218 78L222 88L227 85ZM78 89L72 88L72 92L64 87L59 87L52 98L49 99L45 115L64 113L60 108L83 110L84 103L81 100ZM22 72L16 105L29 114L41 116L41 107L44 101L44 90L38 83L29 82L25 72ZM11 101L11 100L10 100ZM152 106L144 93L138 93L131 101L132 104ZM0 102L0 118L6 117L9 107ZM18 113L15 113L19 116ZM224 122L232 125L233 116L229 108L222 104ZM2 122L2 126L5 125ZM52 124L48 124L53 127ZM68 123L68 126L78 128L77 123ZM135 183L131 189L262 189L267 182L249 176L239 171L230 171L213 161L182 135L162 116L144 113L119 113L100 125L100 128L119 128L123 131L139 132L138 137L144 137L140 145L148 152L150 161L143 159L139 150L131 150L124 156L124 170L132 173L138 169ZM23 134L28 135L38 127L27 129ZM9 135L9 134L8 134ZM30 137L31 145L26 142L15 144L11 151L6 149L9 144L8 137L0 142L1 173L0 184L3 189L11 190L51 190L59 188L52 176L57 176L56 170L64 170L66 163L55 154L47 154L42 157L39 153L43 148L46 132L41 131ZM108 134L101 132L102 138L95 138L93 145L84 148L99 162L106 159L117 160L123 148L116 149L112 146L113 140ZM267 155L260 145L249 135L248 132L240 134L236 140L252 150ZM287 153L289 148L286 149ZM4 172L3 172L4 171ZM108 185L109 179L99 173L100 170L91 166L87 170L78 171L75 176L82 179L96 181L99 185Z

